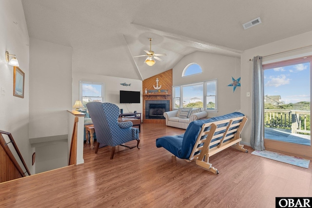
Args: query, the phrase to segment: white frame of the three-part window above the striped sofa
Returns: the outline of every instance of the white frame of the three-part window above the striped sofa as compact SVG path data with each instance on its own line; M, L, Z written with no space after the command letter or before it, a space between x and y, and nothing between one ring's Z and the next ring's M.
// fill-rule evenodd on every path
M215 109L207 109L207 83L209 82L215 82ZM217 79L211 79L211 80L206 80L206 81L202 81L202 82L194 82L194 83L190 83L190 84L183 84L183 85L175 85L172 87L172 92L173 92L173 96L172 96L172 102L173 102L173 110L177 110L176 105L175 105L175 98L178 98L176 97L175 95L175 88L176 87L179 87L180 88L180 97L179 97L179 100L180 100L180 108L183 107L183 87L187 87L187 86L194 86L194 85L202 85L203 86L203 110L204 111L207 111L207 112L218 112L218 82L217 82ZM209 95L209 96L212 96L212 95ZM204 108L205 106L205 108Z

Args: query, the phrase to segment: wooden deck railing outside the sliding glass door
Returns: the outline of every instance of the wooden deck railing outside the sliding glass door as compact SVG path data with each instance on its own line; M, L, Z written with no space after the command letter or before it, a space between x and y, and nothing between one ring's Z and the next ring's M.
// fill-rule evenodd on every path
M292 133L309 133L310 111L297 110L264 110L264 125L276 128L291 129Z

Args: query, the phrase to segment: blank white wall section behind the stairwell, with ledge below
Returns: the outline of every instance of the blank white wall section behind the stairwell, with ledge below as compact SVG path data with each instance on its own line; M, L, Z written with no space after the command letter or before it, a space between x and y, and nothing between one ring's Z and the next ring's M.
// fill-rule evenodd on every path
M72 109L72 48L30 38L29 138L36 173L68 165L68 112Z

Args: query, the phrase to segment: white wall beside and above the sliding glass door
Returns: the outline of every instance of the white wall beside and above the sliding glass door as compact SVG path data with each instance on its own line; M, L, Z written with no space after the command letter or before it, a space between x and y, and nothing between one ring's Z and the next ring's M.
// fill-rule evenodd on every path
M312 45L312 31L304 33L298 36L293 36L291 38L282 39L270 44L255 47L244 51L241 55L241 111L246 114L249 121L242 132L242 143L250 145L250 135L251 135L251 118L252 118L252 93L250 97L246 97L247 92L252 92L252 69L253 62L249 61L250 58L255 56L267 56L283 51L288 51L307 45ZM264 57L262 63L272 63L281 60L287 60L295 57L303 57L312 55L312 47L294 50L292 52L283 53L271 57Z

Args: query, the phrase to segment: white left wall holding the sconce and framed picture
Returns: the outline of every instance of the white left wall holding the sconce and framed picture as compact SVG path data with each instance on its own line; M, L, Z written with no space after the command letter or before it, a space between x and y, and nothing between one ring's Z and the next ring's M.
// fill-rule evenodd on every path
M29 37L20 0L0 1L0 25L0 88L5 90L5 95L0 95L0 130L12 133L28 169L34 173L33 149L28 140ZM13 66L5 61L5 51L16 55L25 73L24 98L13 96Z

